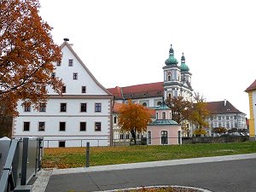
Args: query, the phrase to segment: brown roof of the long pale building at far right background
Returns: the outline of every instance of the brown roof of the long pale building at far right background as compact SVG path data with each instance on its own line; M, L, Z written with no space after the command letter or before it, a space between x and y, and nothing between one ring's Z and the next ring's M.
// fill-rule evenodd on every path
M207 109L210 111L211 114L242 113L237 108L235 108L229 101L207 102Z

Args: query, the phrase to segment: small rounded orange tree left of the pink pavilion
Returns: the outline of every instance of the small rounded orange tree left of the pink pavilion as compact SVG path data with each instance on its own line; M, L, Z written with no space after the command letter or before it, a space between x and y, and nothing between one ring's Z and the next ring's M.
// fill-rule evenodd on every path
M147 131L147 125L151 121L148 108L131 100L119 108L119 126L121 131L130 131L136 144L136 133Z

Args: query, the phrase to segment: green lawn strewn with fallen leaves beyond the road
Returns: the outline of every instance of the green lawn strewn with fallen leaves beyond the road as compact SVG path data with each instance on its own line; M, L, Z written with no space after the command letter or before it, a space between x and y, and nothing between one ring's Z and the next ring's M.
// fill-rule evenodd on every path
M91 147L90 166L256 153L256 142ZM44 148L43 167L85 166L85 148Z

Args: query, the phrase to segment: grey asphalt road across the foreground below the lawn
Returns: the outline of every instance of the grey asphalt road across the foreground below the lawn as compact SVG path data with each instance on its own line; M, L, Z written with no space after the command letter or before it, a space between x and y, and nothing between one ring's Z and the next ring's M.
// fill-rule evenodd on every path
M183 185L214 192L255 192L256 159L52 175L46 192Z

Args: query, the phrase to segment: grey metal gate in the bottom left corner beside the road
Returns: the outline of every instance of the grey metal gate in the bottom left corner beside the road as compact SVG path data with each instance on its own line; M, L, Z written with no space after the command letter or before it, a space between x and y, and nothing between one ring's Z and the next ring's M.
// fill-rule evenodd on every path
M0 139L0 192L32 191L27 185L41 169L42 138Z

